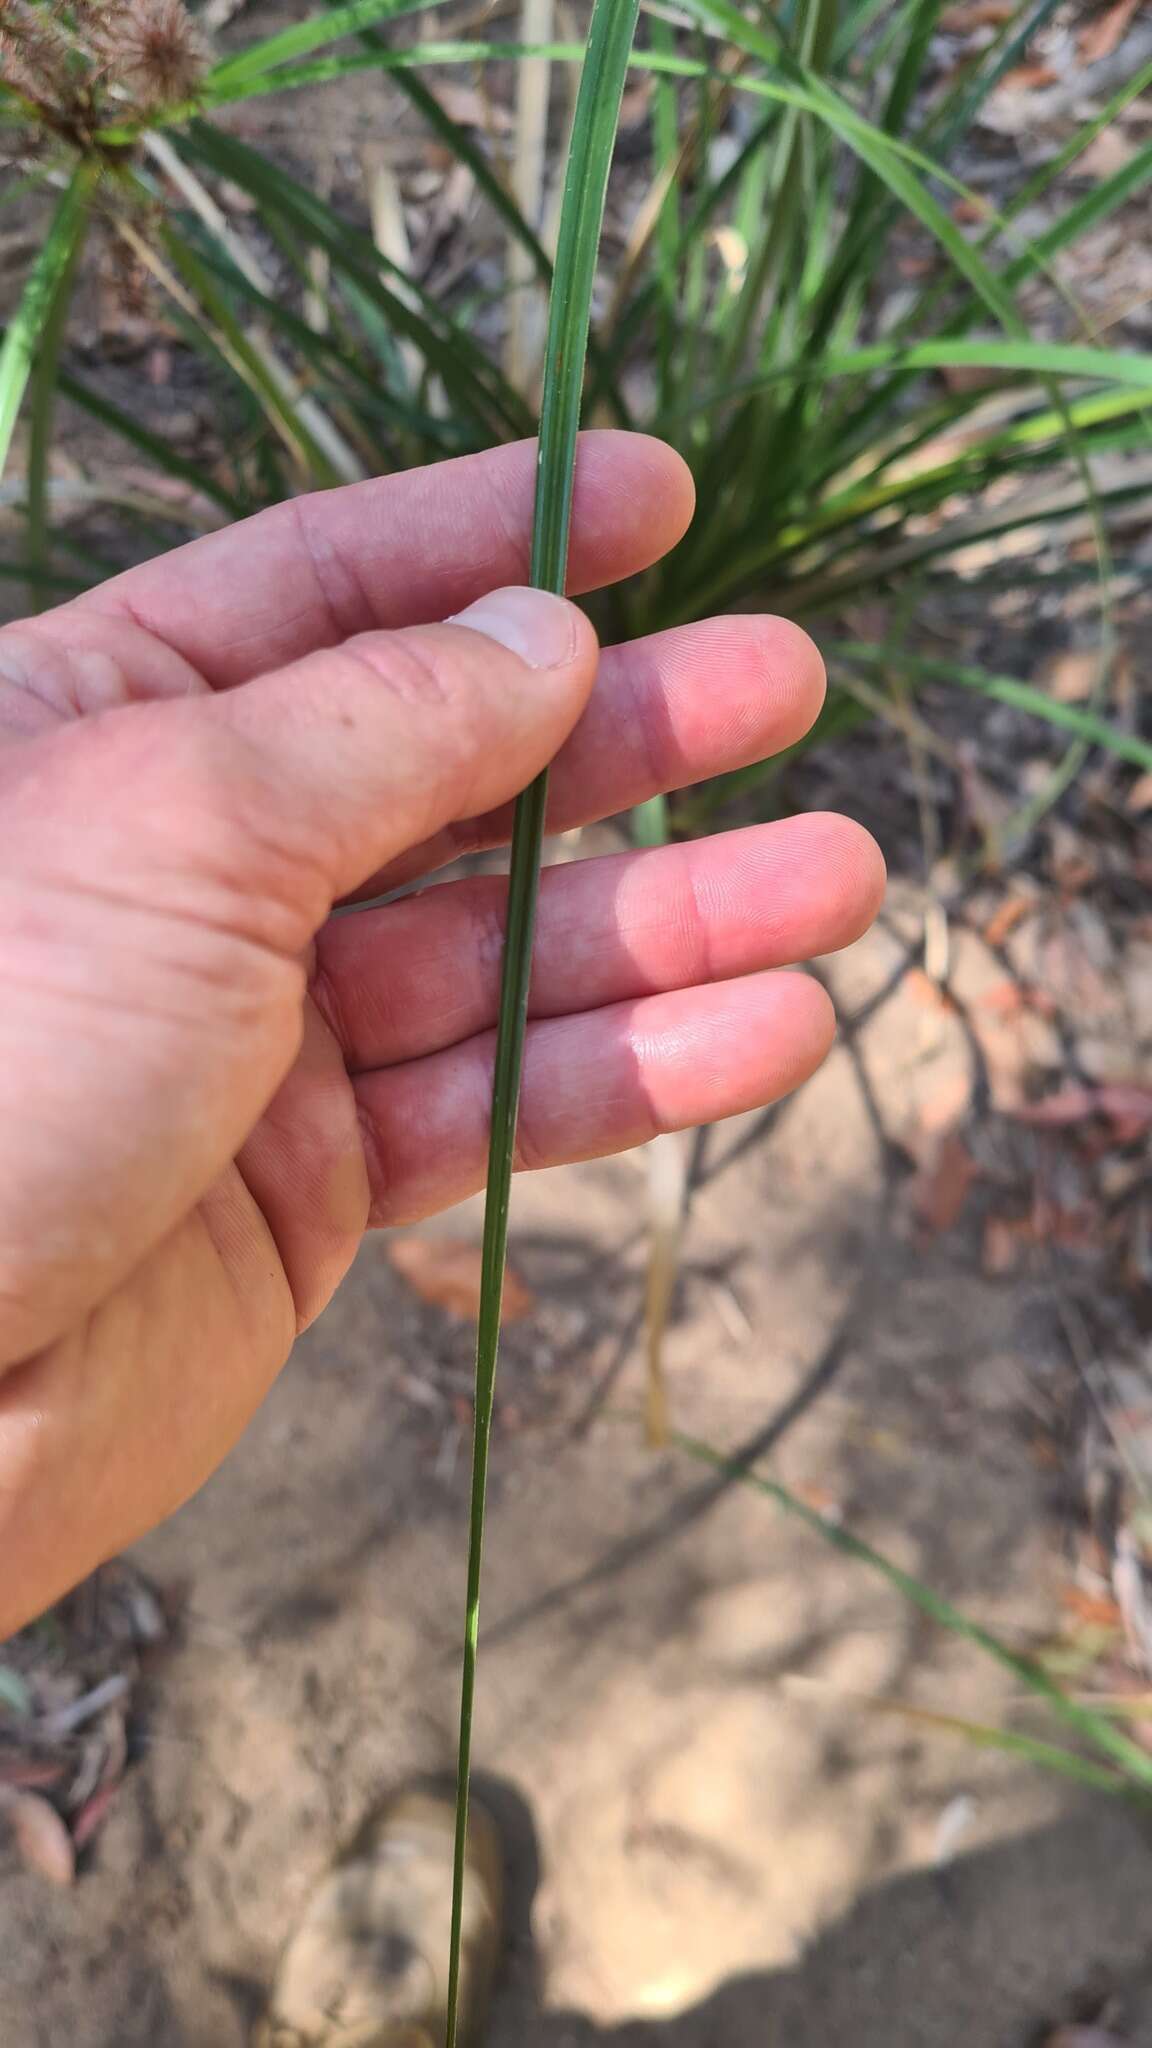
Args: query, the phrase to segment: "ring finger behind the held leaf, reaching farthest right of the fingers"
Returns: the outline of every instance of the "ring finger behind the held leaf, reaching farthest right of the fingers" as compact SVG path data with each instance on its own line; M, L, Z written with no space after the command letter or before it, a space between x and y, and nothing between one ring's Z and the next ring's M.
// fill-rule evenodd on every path
M547 868L531 1014L791 967L859 938L881 893L875 842L822 813ZM496 1022L504 905L506 881L476 877L324 928L314 997L351 1073L422 1059Z

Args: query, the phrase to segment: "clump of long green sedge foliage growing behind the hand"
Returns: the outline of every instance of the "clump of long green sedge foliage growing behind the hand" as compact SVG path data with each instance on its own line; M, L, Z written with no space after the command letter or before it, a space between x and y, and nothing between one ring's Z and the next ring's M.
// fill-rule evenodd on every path
M414 0L328 4L211 63L182 0L139 0L135 10L123 0L8 0L0 137L18 158L20 133L35 131L31 178L66 180L0 377L6 444L37 362L23 559L41 588L59 575L45 479L53 371L57 356L68 362L66 244L92 211L152 274L209 375L232 385L225 403L242 430L199 475L199 496L228 512L535 432L535 399L508 383L498 338L476 340L476 289L465 281L437 299L346 207L228 125L228 111L256 94L320 82L338 92L353 72L387 74L469 168L492 231L523 244L545 283L549 254L510 197L504 164L435 90L445 70L476 76L527 45L494 35L414 43ZM972 582L961 551L974 541L998 571L998 543L1047 500L1047 522L1095 545L1107 629L1109 520L1150 487L1152 377L1144 358L1093 340L1058 272L1082 236L1148 184L1152 145L1056 211L1052 184L1152 84L1152 66L1134 70L1050 164L1021 176L1002 215L974 207L953 168L982 100L1052 10L1054 0L1021 0L955 78L933 74L939 0L791 0L756 18L732 0L685 0L678 20L691 29L648 16L631 55L650 78L646 193L625 262L615 274L603 266L586 416L672 440L695 471L701 512L670 561L611 600L621 631L744 602L836 618L861 594L898 592L906 639L922 655L918 670L906 664L904 684L982 688L980 672L959 674L924 645L939 573L963 559ZM422 8L422 33L433 20ZM545 53L570 66L584 49L556 43ZM275 270L258 260L250 221L225 217L221 178L248 195L275 240ZM959 199L976 227L957 219ZM1050 219L1027 240L1021 219L1045 199ZM916 260L896 311L894 238ZM307 319L318 264L322 332ZM84 401L137 455L191 481L193 465L152 428L117 416L90 387ZM1107 631L1103 639L1082 737L1140 760L1140 741L1107 719ZM830 666L834 682L851 684L847 651L834 647ZM1004 696L1004 682L1013 678L992 694ZM1043 692L1015 702L1068 723Z

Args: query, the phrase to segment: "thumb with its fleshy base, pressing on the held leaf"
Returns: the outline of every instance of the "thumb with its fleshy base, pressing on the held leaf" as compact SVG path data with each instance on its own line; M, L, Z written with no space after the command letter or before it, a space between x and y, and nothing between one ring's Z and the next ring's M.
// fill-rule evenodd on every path
M0 752L0 1368L236 1157L299 1051L332 903L523 788L594 668L572 604L502 590Z

